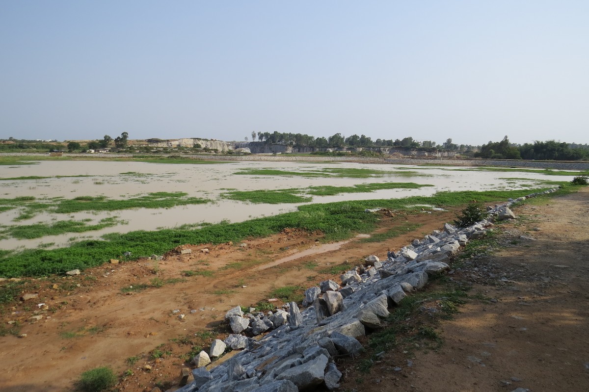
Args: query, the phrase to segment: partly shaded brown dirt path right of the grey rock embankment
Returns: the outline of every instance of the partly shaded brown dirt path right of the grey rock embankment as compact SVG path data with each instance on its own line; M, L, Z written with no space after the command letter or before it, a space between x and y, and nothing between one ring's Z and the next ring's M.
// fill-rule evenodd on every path
M498 250L451 275L482 299L442 322L441 348L387 353L368 374L358 358L343 390L589 390L589 188L515 213Z

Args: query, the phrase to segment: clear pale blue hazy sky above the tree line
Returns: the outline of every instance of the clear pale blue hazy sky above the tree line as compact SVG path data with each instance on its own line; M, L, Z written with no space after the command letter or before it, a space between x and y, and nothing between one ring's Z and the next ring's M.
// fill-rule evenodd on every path
M0 0L0 138L589 143L589 2Z

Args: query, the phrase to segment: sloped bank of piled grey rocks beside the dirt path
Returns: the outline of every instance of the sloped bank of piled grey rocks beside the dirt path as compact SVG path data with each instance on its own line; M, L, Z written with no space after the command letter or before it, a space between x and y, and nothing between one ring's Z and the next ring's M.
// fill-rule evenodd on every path
M289 304L288 312L266 315L243 315L239 307L230 310L226 319L236 334L216 341L210 354L220 356L226 347L243 351L211 371L204 367L209 354L202 351L193 360L194 381L180 391L299 391L321 384L337 388L342 374L334 358L360 353L356 338L381 327L380 318L389 308L423 288L432 275L447 271L445 261L469 240L484 237L492 221L514 218L509 206L525 198L490 208L488 220L468 228L445 224L444 231L414 240L399 253L389 253L386 261L366 258L365 265L341 275L343 287L324 281L309 288L304 301L309 307L302 312L296 303ZM267 330L272 331L259 341L243 335Z

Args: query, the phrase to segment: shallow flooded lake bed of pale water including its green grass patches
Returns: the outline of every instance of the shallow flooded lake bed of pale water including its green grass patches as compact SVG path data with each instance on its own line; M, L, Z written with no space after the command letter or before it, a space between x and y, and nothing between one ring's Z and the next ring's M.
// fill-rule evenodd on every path
M293 211L307 203L429 196L438 191L522 189L541 186L542 181L570 180L570 176L544 175L525 169L501 172L348 162L154 164L42 161L34 165L5 165L0 166L0 198L7 201L8 207L0 207L0 249L53 248L83 239L100 238L111 232L239 222ZM413 183L415 187L378 189L379 184L391 183ZM319 195L321 192L317 191L317 187L324 190L325 187L353 188L367 184L376 185L376 190L350 192L342 189L330 195ZM283 190L295 194L302 201L274 204L228 198L231 192L267 191L267 194L272 194ZM254 196L259 197L260 192L245 197L249 200ZM28 202L34 198L37 204L31 204L27 210L18 200L15 201L17 198ZM114 204L106 204L111 201L147 202L148 198L156 208L111 208L108 206ZM61 208L72 200L100 201L107 207L102 210L84 210L79 206L74 210ZM38 205L39 202L43 205ZM157 208L157 203L162 207ZM66 228L65 232L57 235L43 235L41 229L40 234L26 235L17 230L35 228L35 225L95 228L81 229L80 232L67 231L69 229Z

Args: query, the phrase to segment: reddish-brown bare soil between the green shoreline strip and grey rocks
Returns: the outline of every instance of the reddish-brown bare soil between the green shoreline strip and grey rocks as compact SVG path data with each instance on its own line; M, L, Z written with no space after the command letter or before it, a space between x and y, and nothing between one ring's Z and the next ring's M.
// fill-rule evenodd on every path
M0 391L70 391L83 371L101 366L125 374L117 386L120 391L151 390L155 385L171 387L191 350L207 350L210 341L229 333L221 321L231 307L256 304L267 299L273 289L285 285L306 288L327 278L339 281L338 274L321 270L346 260L359 264L370 254L386 258L387 250L398 249L439 229L455 213L381 215L378 231L408 221L422 226L385 242L355 239L339 250L264 270L257 269L307 248L319 248L316 240L320 240L321 233L285 230L269 238L244 241L246 247L187 244L183 248L190 248L191 254L174 250L159 262L105 264L77 277L28 280L22 294L38 293L39 297L9 305L1 316L4 325L18 321L21 326L16 335L0 337ZM203 251L205 248L208 253ZM213 275L186 276L182 271L210 271ZM182 281L128 294L121 291L131 285L152 284L154 278ZM38 308L39 303L46 304L47 309ZM180 319L174 310L180 310L185 317ZM29 323L27 320L34 314L43 315L42 320ZM27 336L18 338L19 334ZM154 350L159 351L154 355ZM137 362L128 363L130 357L137 357ZM145 370L145 365L151 370Z

